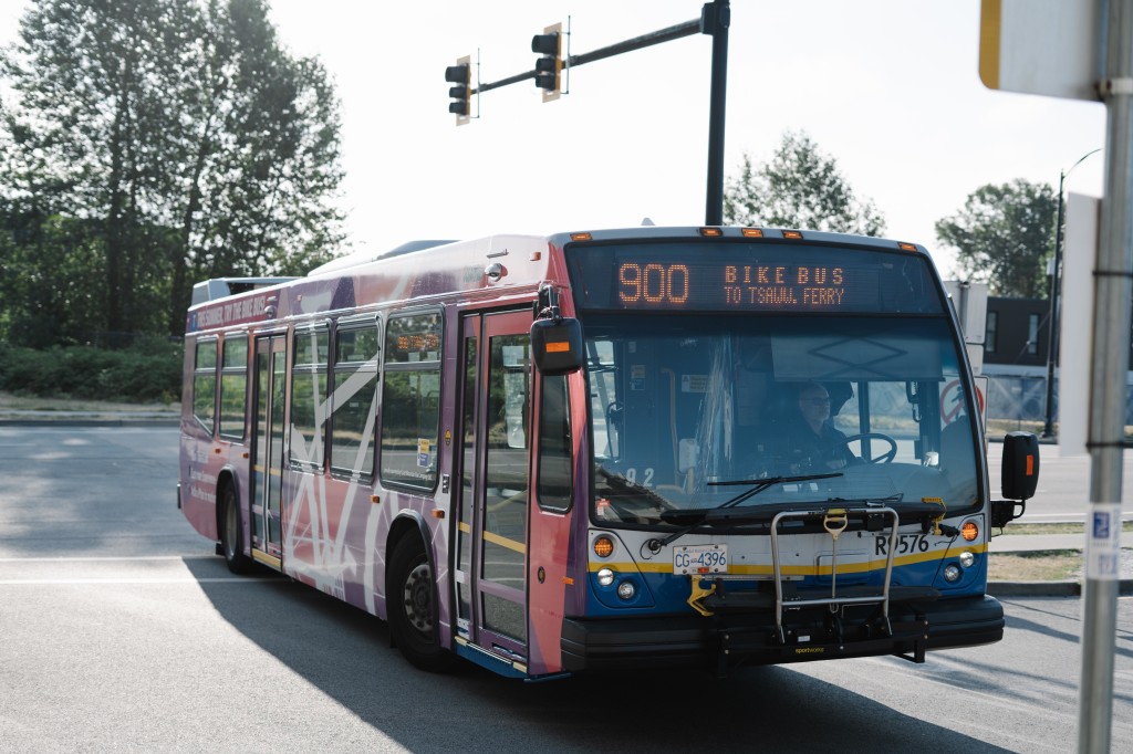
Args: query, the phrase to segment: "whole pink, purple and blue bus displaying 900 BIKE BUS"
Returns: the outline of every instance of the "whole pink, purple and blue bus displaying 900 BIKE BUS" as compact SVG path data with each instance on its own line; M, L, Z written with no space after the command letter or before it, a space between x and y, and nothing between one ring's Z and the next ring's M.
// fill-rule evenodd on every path
M523 678L1002 639L988 541L1020 503L990 500L922 247L433 243L198 285L230 294L188 312L178 504L232 571L387 620L418 667ZM1037 444L1006 439L1025 504Z

